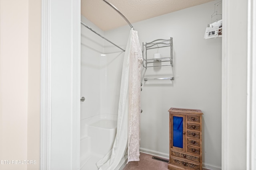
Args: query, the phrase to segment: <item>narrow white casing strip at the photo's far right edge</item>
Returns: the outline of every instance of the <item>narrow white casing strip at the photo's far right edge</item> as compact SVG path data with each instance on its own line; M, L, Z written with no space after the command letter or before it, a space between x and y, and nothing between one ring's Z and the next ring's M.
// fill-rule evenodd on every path
M256 2L248 0L246 169L256 168Z

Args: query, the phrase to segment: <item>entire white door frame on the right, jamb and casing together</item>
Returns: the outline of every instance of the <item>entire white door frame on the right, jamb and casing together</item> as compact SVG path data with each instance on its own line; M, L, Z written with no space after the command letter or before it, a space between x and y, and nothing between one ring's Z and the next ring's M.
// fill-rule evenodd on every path
M222 170L251 170L256 168L256 3L222 4ZM236 31L241 34L234 37Z

